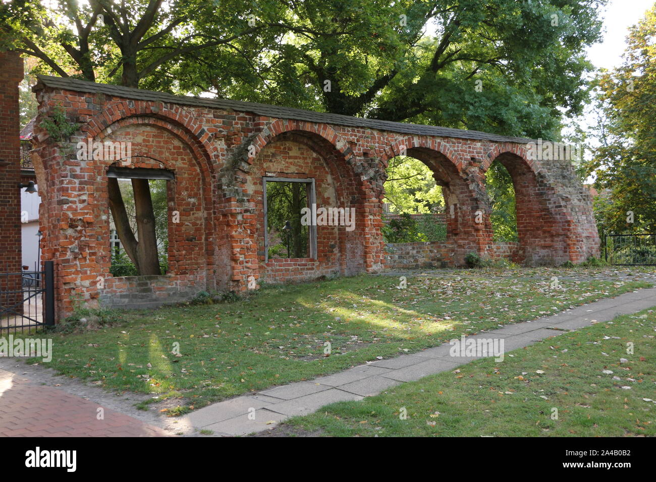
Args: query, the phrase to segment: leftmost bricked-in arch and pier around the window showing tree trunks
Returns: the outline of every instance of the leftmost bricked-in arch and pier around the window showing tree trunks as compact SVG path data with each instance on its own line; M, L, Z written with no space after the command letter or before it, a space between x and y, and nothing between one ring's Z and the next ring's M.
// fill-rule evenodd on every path
M73 286L67 283L68 275L60 278L62 282L56 287L58 311L70 311L72 294L85 298L91 306L148 308L163 300L184 300L184 293L195 286L226 286L228 273L218 266L216 256L216 244L220 243L215 239L221 233L217 231L213 200L222 194L212 182L215 168L209 157L211 146L203 145L188 129L166 116L133 115L113 122L95 119L83 125L80 132L77 139L83 142L131 142L131 168L164 168L175 173L167 188L169 271L149 278L148 294L139 285L141 277L110 274L111 214L106 171L115 162L77 159L70 149L54 149L43 163L43 150L37 149L33 157L37 179L45 187L43 195L58 193L60 201L66 201L56 203L58 209L53 209L52 201L41 205L43 252L56 261L60 273L74 270L83 279L82 285ZM52 172L57 163L68 165L73 178L81 179L77 188ZM174 211L180 213L180 222L173 222ZM220 273L225 274L222 277Z

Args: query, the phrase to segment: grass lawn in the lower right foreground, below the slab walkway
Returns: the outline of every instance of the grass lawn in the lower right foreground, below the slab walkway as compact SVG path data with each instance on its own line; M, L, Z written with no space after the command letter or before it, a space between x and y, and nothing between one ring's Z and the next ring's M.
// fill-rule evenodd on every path
M653 436L655 335L656 311L624 315L510 351L501 363L480 359L361 402L335 403L276 430L365 437ZM626 353L627 342L633 354Z

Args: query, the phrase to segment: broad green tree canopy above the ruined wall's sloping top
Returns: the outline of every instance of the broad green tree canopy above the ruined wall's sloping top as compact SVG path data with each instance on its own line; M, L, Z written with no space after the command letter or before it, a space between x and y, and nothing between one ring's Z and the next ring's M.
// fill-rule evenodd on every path
M92 81L556 138L606 1L12 0L0 48Z

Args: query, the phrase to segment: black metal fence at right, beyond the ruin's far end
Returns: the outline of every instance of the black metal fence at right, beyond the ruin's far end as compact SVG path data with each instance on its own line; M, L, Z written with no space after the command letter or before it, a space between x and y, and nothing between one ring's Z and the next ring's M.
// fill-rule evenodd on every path
M618 266L656 266L656 234L607 234L604 256Z

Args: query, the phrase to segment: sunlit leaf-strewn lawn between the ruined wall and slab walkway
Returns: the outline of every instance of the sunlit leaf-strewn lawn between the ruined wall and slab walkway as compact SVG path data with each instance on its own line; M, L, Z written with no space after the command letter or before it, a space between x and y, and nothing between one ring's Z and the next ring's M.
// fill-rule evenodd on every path
M133 311L118 326L52 335L48 365L108 390L151 393L153 402L179 399L169 411L179 414L651 285L562 279L554 289L559 271L518 273L537 277L433 271L398 289L396 277L361 275L264 287L233 303Z

